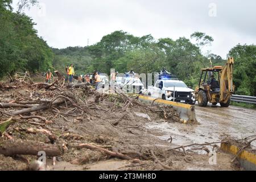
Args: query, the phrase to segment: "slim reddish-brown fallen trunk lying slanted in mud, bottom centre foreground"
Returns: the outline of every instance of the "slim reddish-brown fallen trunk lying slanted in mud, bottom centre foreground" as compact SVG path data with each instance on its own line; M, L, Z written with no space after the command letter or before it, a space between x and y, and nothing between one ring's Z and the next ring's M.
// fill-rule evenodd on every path
M131 160L132 159L129 156L121 154L119 152L112 152L112 151L109 151L105 148L93 146L91 144L80 144L79 146L76 146L76 148L77 149L89 148L90 150L98 150L98 151L104 152L105 154L108 154L110 156L114 156L114 157L119 158L119 159L125 159L125 160Z

